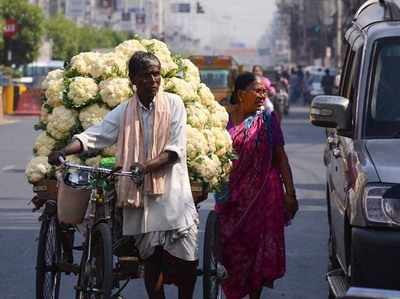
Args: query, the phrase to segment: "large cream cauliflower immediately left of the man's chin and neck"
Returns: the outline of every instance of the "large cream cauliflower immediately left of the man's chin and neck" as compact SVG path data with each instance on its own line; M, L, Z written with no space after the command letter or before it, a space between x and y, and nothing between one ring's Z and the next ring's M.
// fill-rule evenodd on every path
M133 95L129 79L108 79L101 81L99 86L101 98L110 108L118 106Z

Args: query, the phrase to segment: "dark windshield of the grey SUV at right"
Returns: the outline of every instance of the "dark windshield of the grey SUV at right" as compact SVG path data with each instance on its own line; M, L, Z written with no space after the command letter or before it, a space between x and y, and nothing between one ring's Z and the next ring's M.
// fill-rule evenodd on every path
M387 138L400 131L400 40L377 42L369 94L366 135Z

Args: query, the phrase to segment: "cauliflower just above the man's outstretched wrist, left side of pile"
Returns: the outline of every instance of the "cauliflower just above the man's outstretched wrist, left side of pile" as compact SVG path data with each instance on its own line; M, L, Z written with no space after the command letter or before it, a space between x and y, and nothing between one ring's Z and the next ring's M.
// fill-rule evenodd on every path
M59 106L48 117L47 133L56 140L63 140L70 136L70 131L76 124L77 112Z

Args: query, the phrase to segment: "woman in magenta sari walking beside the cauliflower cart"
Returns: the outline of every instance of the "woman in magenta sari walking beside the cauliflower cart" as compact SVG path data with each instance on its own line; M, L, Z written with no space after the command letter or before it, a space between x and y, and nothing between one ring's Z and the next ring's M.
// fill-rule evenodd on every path
M282 130L274 112L262 110L265 92L259 77L244 73L232 96L228 129L238 159L216 205L228 299L258 299L284 275L284 226L298 209Z

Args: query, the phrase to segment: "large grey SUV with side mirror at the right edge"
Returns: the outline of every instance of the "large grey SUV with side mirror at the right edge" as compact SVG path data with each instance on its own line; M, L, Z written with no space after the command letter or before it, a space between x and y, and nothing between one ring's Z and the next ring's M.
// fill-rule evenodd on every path
M338 96L318 96L327 128L329 298L348 287L400 290L400 4L367 1L346 33ZM386 194L386 196L385 196Z

